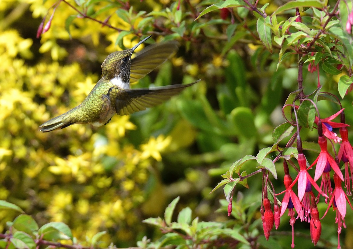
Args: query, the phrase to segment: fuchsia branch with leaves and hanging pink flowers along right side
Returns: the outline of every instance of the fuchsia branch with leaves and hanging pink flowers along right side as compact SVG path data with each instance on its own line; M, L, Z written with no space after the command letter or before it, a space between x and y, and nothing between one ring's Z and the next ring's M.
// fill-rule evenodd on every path
M323 25L322 31L327 32L327 25L330 19L338 16L338 6L339 2L332 9L331 12L327 13L327 19ZM245 178L250 177L256 173L263 174L263 189L262 189L262 203L260 208L261 219L263 223L263 230L265 238L268 240L270 237L270 232L273 229L273 224L277 229L280 224L280 218L288 210L289 224L292 226L292 244L291 247L295 247L294 243L294 223L299 219L301 222L307 222L310 224L310 236L311 240L316 245L321 237L322 225L321 219L325 218L329 210L336 211L335 223L337 224L337 234L338 243L337 248L341 248L340 234L342 227L346 228L345 216L347 211L347 203L349 208L352 208L351 202L347 196L352 195L352 184L353 184L353 147L349 142L348 132L349 124L346 123L344 109L339 101L339 97L335 96L329 92L321 92L322 85L320 84L320 73L321 66L325 72L327 71L327 63L329 60L335 60L336 64L330 65L333 70L341 70L342 77L338 83L338 90L341 97L343 98L345 94L348 94L352 87L352 63L349 61L343 62L342 58L352 56L351 53L347 52L348 55L338 52L335 50L335 45L340 45L340 39L345 43L343 36L348 37L351 34L351 28L353 24L353 7L348 6L346 2L341 1L340 11L343 14L345 8L348 9L346 19L342 21L342 27L346 27L345 32L343 29L340 30L342 37L334 36L332 41L332 49L330 52L337 52L335 56L330 57L329 53L321 54L322 51L316 50L319 46L316 43L321 34L316 34L314 37L306 37L303 40L304 43L300 44L298 40L298 46L293 43L293 49L298 54L298 90L292 92L286 104L282 108L283 117L287 122L283 123L277 127L273 132L273 138L275 144L273 147L262 149L257 157L246 156L243 159L235 162L229 172L225 175L232 175L233 172L239 174L239 178L233 179L232 177L228 180L223 180L221 185L227 184L227 181L231 183L232 181L243 181ZM272 17L273 18L273 17ZM299 8L296 8L295 25L298 27L302 23L302 18L300 17ZM286 26L287 27L287 26ZM301 26L304 28L304 26ZM335 30L339 31L338 29ZM301 32L301 31L299 31ZM289 28L286 29L288 36L292 35L289 32ZM329 32L328 32L329 33ZM349 34L347 36L347 34ZM309 38L308 38L309 37ZM347 40L352 42L352 38L348 37ZM314 49L314 44L317 45ZM343 47L348 47L348 44ZM345 51L342 49L342 51ZM309 58L309 59L308 59ZM324 59L323 59L324 58ZM303 77L303 65L304 61L308 62L308 71L310 73L317 72L317 89L312 93L306 95L304 93L304 77ZM343 67L345 66L345 67ZM333 71L332 71L333 72ZM336 71L335 71L336 73ZM337 72L338 74L339 72ZM347 74L347 75L344 75ZM342 87L343 82L345 87ZM309 84L310 82L308 82ZM329 117L322 118L317 106L318 101L330 101L337 105L336 113ZM336 122L340 116L340 122ZM338 132L339 128L339 135ZM306 152L310 148L302 142L301 130L303 129L317 129L318 135L318 147L316 151L318 152L317 158L312 162L308 162L306 159ZM337 130L336 130L337 129ZM284 132L283 132L284 130ZM287 144L283 147L280 146L280 142L284 137L291 135ZM328 143L329 141L329 143ZM335 148L339 148L338 152ZM275 159L266 158L269 153L277 152ZM249 160L256 159L259 163L260 170L246 175L245 177L240 175L241 166ZM277 164L275 162L282 160L284 177L283 183L285 190L278 191L274 188L273 183L269 180L270 173L277 179L277 173L275 167ZM311 164L310 164L311 163ZM291 167L288 167L290 165ZM299 167L297 166L299 165ZM344 166L344 167L343 167ZM344 174L341 171L341 167L344 168ZM293 169L291 169L293 168ZM314 173L315 172L315 173ZM223 175L223 177L225 177ZM293 178L294 180L292 180ZM332 182L331 182L332 181ZM342 183L344 183L344 189L342 188ZM217 185L217 187L220 186ZM297 185L297 188L295 187ZM226 196L228 193L232 194L234 192L234 184L232 189L227 189ZM216 188L217 188L216 187ZM271 189L270 191L268 189ZM273 198L269 198L269 194ZM284 196L283 196L284 194ZM277 197L282 196L282 205L279 206L279 200ZM229 199L229 197L228 197ZM273 200L273 209L271 208L270 199ZM327 209L324 213L319 213L317 204L325 203ZM228 205L228 213L232 209L231 202Z

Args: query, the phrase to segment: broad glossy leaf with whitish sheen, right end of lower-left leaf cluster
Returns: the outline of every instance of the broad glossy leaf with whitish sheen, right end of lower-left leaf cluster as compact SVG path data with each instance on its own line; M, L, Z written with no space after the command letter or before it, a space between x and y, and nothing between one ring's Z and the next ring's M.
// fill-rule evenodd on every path
M43 236L44 240L50 241L72 239L70 228L62 222L49 222L38 230L38 234Z

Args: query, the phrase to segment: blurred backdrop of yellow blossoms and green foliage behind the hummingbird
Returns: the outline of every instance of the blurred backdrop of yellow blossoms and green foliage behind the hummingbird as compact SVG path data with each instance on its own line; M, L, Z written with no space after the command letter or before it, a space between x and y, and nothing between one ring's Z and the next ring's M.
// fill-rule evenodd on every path
M280 107L296 88L296 57L287 57L276 70L279 48L270 53L253 39L257 17L245 8L237 9L232 24L230 16L221 19L219 10L194 21L213 1L185 1L180 10L178 2L168 0L68 2L91 18L103 21L111 15L107 23L124 31L77 18L61 2L50 29L36 39L37 27L49 9L48 20L55 1L0 2L0 199L20 206L39 225L68 224L80 241L107 230L103 247L110 242L132 246L144 235L160 236L141 221L162 216L177 196L178 210L190 206L193 217L205 221L252 224L247 236L263 237L257 209L260 176L248 181L249 190L237 187L237 222L226 217L227 202L219 203L222 191L209 193L234 161L273 145L271 133L283 122ZM270 3L268 13L280 4ZM142 34L153 34L158 42L176 39L180 50L135 87L202 81L156 108L116 115L101 128L39 131L41 123L84 99L109 53L132 47ZM305 76L309 93L316 88L316 74ZM337 93L338 79L323 71L321 76L324 88ZM351 102L350 96L342 102L347 123L353 121ZM321 115L333 111L323 105ZM315 141L317 135L303 136ZM246 172L256 166L247 165ZM348 215L347 234L352 234ZM0 229L15 216L0 210ZM289 230L287 223L282 219L283 230ZM325 240L336 236L333 223ZM299 225L301 229L307 228ZM282 236L287 245L288 239ZM352 238L347 235L346 240L348 244ZM299 248L312 246L310 237L303 241Z

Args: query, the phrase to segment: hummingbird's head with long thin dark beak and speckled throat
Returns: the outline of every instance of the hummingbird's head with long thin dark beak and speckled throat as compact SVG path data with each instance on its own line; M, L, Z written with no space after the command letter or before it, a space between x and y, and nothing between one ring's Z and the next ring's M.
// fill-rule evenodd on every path
M108 80L116 79L122 83L130 82L130 63L133 51L141 45L145 40L151 36L146 37L131 49L116 51L108 55L102 63L102 77Z

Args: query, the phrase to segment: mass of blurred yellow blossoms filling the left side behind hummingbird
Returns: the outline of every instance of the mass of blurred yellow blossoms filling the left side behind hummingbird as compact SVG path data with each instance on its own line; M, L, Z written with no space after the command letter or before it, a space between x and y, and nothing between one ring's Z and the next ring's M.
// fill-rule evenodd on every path
M55 3L28 2L39 19ZM11 7L0 3L4 13ZM72 14L67 6L58 6L38 51L33 39L22 38L11 26L0 32L0 199L19 205L39 224L65 222L81 241L103 230L110 230L103 237L109 243L129 241L139 230L137 207L146 200L151 166L161 161L172 138L149 135L141 145L133 143L125 136L137 125L130 116L117 115L101 128L73 125L40 132L41 123L79 104L99 79L99 74L83 72L78 62L63 60L70 56L58 41L70 37L62 20ZM126 25L114 16L112 24ZM94 45L102 34L114 40L111 30L82 19L75 20L70 32L73 38L89 37ZM124 45L130 43L136 41L124 39ZM104 52L109 50L113 46ZM1 211L0 229L8 220L8 212Z

